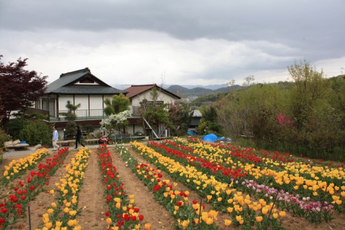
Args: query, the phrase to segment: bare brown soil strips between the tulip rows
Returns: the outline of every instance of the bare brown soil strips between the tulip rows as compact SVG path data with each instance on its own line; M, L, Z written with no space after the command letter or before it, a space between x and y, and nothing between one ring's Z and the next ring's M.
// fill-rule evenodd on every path
M138 162L143 162L148 164L144 158L142 158L139 154L132 151L130 147L128 147L130 153L138 160ZM50 178L50 184L47 186L47 190L55 189L55 182L58 182L60 178L63 178L66 175L65 166L71 160L71 158L77 153L75 150L70 150L69 155L66 157L64 161L65 164L61 166L55 175ZM124 190L128 195L135 195L135 206L139 207L139 213L144 215L144 220L142 225L146 222L151 224L151 229L168 229L172 230L175 229L174 222L175 219L172 218L170 213L163 207L161 204L158 204L155 199L153 198L152 192L148 191L148 188L137 178L137 176L130 171L126 167L126 164L123 160L121 160L121 156L115 148L110 148L110 153L112 154L112 163L116 166L117 171L119 172L121 180L124 182ZM47 157L51 157L52 153ZM16 156L16 157L5 157L4 161L0 164L0 173L3 176L4 166L8 165L11 160L17 160L19 157L26 157L26 155ZM81 213L77 216L77 220L79 220L79 225L82 229L107 229L106 224L106 216L104 213L108 211L108 207L106 204L106 199L103 196L103 191L105 186L101 180L101 172L99 171L98 166L98 157L95 150L91 151L89 160L88 160L88 167L85 171L85 180L83 185L81 186L81 191L79 193L79 208L83 209ZM151 165L155 168L154 165ZM33 169L34 171L37 169ZM164 175L164 178L174 182L169 175L166 173L161 172ZM1 186L0 188L0 198L1 201L3 198L7 198L8 194L12 193L12 188L19 180L23 180L26 178L28 174L21 175L21 178L14 180L8 184L8 186ZM178 182L177 182L178 183ZM184 184L178 183L177 189L180 191L190 191ZM190 202L192 200L201 201L203 204L206 205L206 211L212 209L210 204L207 204L206 200L202 199L197 193L194 191L190 191L190 195L188 196ZM41 215L46 212L46 209L50 207L51 202L56 202L55 198L52 197L49 193L41 192L37 195L36 199L30 202L30 217L31 217L31 228L35 229L36 227L43 227L43 223L41 220ZM28 215L26 215L23 219L19 222L13 224L11 227L13 229L30 229L29 228L29 221ZM303 218L293 217L290 214L286 215L286 218L283 222L283 227L286 229L304 229L304 230L312 230L312 229L329 229L329 230L341 230L345 229L345 213L334 213L333 217L335 220L332 220L329 223L322 223L322 224L311 224L304 220ZM219 229L224 229L224 219L229 218L226 214L218 214L217 224L219 225ZM144 229L144 227L142 228ZM233 227L231 228L233 229ZM238 228L241 229L241 228Z

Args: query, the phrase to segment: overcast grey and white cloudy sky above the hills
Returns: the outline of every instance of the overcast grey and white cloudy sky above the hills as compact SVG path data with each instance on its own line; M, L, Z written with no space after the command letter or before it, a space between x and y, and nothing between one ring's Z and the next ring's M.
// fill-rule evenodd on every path
M0 55L48 75L115 84L288 79L306 59L345 73L344 0L0 0Z

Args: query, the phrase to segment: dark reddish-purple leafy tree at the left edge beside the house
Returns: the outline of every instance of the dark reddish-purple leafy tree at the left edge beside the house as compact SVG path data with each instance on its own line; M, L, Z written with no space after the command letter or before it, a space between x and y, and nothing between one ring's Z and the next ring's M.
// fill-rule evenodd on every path
M0 117L10 118L12 111L32 106L32 102L46 93L46 78L34 70L25 70L26 59L10 62L1 61L0 55Z

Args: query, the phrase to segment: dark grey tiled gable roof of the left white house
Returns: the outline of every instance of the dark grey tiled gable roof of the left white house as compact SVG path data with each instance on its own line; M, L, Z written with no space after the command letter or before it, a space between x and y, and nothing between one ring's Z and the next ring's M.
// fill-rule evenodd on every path
M55 82L48 84L48 94L119 94L126 91L112 88L91 74L89 68L63 73Z

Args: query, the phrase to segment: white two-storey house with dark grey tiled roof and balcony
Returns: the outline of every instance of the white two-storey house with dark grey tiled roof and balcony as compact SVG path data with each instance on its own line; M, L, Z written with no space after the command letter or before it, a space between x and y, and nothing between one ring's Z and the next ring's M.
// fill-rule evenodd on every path
M89 68L63 73L55 82L48 84L46 95L34 102L33 108L48 111L49 122L56 126L64 127L66 119L61 113L66 113L67 101L72 104L80 104L75 114L79 124L99 125L104 118L104 99L119 95L126 91L109 86L101 79L92 75Z

